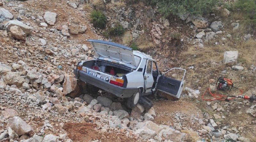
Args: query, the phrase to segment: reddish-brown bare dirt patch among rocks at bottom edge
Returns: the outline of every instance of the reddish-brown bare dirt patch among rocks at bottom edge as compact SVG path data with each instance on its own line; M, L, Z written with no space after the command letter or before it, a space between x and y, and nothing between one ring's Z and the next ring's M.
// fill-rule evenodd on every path
M97 125L91 123L67 123L64 129L74 142L88 142L97 139L101 142L138 142L121 133L101 133L95 130L96 127Z

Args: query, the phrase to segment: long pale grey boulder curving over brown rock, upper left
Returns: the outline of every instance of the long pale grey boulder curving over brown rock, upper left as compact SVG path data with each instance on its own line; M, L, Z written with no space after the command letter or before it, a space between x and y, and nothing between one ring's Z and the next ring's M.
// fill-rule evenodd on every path
M18 20L11 20L4 25L4 27L7 29L8 32L10 31L12 26L20 27L20 29L22 29L22 31L25 32L26 35L29 35L33 31L32 27L30 27Z

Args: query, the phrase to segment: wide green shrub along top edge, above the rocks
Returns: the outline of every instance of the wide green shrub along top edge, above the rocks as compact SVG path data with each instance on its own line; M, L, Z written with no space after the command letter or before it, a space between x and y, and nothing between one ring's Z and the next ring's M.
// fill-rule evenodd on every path
M159 12L166 18L170 14L177 16L186 13L208 14L219 0L151 0L151 4L156 2L159 5Z

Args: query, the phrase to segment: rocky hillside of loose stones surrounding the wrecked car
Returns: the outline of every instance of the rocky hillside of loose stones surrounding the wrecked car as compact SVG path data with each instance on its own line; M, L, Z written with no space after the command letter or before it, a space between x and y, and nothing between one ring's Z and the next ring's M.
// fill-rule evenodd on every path
M223 5L204 16L163 18L158 9L118 0L0 0L0 141L256 141L255 101L201 99L208 87L216 91L219 76L255 94L253 32ZM106 28L94 27L92 10L103 11ZM123 35L106 37L117 22ZM161 71L187 69L180 100L150 97L151 109L128 109L105 91L89 94L73 75L79 61L95 57L87 39L136 45Z

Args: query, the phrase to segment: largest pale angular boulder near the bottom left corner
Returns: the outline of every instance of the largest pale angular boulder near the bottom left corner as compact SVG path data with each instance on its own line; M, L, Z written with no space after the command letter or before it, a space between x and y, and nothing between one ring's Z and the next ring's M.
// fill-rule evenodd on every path
M20 117L8 119L6 127L11 127L19 136L34 131L33 128Z

